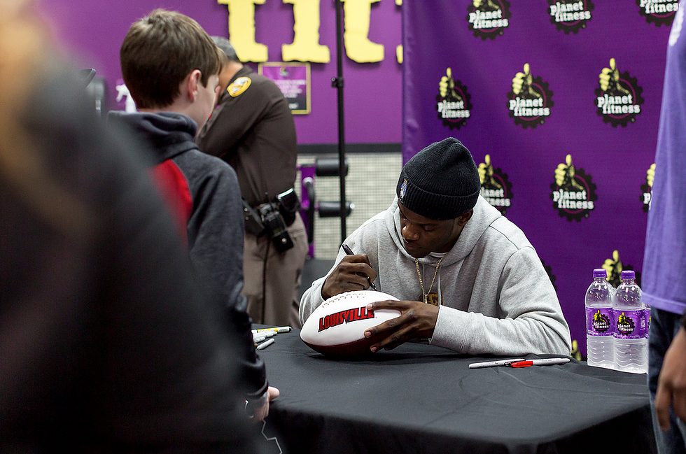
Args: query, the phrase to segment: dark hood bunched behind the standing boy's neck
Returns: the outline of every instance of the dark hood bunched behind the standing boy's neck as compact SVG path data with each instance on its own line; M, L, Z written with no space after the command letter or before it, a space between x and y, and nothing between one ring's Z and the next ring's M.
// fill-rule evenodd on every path
M186 115L174 112L110 112L108 120L125 125L141 141L151 145L156 164L197 148L197 125Z

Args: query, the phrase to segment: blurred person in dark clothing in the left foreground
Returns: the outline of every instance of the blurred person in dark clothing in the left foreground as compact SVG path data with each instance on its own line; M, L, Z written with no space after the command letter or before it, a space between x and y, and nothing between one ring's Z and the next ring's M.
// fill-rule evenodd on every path
M0 452L254 452L216 304L32 8L0 3Z

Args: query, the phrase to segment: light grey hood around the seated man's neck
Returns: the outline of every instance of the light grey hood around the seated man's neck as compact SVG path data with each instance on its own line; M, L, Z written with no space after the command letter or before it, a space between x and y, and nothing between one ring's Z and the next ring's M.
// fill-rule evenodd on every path
M486 229L498 218L503 215L500 211L493 208L486 199L479 195L477 204L474 206L474 214L472 218L467 221L465 227L460 233L460 237L457 239L455 246L445 255L443 259L443 265L448 266L462 260L469 255L474 246L476 245L479 238L486 231ZM409 260L414 261L414 257L409 255L405 250L405 246L402 243L402 236L400 235L400 208L398 208L398 198L393 200L391 206L386 210L385 215L386 227L388 227L388 232L391 232L391 237L393 238L393 243L398 247L400 253ZM419 259L419 263L433 263L435 258L423 257Z

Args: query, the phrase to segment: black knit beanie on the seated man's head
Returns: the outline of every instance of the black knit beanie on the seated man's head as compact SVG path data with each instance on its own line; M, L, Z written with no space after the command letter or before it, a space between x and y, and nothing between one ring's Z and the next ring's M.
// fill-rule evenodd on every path
M408 210L433 220L457 218L479 199L479 172L469 150L449 137L418 152L400 171L395 194Z

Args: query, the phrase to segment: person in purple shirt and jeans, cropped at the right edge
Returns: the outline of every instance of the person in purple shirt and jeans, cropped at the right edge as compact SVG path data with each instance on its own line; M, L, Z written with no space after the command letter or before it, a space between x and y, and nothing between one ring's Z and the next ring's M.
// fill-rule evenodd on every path
M686 0L667 47L655 179L643 260L651 307L648 386L660 453L686 453Z

